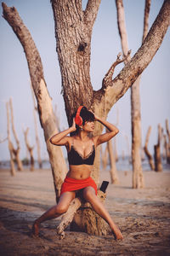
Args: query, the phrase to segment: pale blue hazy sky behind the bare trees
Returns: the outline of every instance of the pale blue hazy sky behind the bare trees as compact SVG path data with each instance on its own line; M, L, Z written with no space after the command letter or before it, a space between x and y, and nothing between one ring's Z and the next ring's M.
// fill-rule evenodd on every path
M42 65L49 95L53 98L53 106L57 106L61 129L67 128L65 105L61 95L61 78L56 40L54 36L54 16L48 0L4 0L8 6L14 6L26 27L31 32L37 49L42 58ZM2 1L1 1L2 3ZM87 1L82 1L84 8ZM141 45L144 20L144 0L124 0L125 19L129 49L133 56ZM150 7L150 26L161 9L163 0L152 0ZM14 126L20 140L20 157L26 157L26 145L23 131L29 127L29 142L35 143L35 127L33 119L33 101L31 96L30 76L24 50L16 38L8 22L3 19L3 9L0 6L0 140L7 137L6 102L12 98L14 108ZM149 149L153 153L157 143L157 125L160 123L165 131L165 120L170 122L170 87L169 87L169 50L170 29L150 65L142 73L140 82L142 142L148 127L152 126ZM91 81L94 90L99 90L105 73L116 60L116 55L122 51L121 41L116 22L115 1L102 0L94 31L91 47ZM123 67L116 67L113 78ZM119 134L116 136L118 154L128 154L131 144L131 114L130 90L116 102L108 115L108 120L117 124ZM118 115L118 118L117 118ZM118 120L118 123L117 123ZM42 159L48 159L43 131L38 121L38 133L41 144ZM170 125L169 125L170 126ZM12 131L11 131L12 134ZM15 146L14 137L12 141ZM64 151L65 152L65 151ZM37 149L34 148L37 158ZM0 143L0 160L9 160L8 143Z

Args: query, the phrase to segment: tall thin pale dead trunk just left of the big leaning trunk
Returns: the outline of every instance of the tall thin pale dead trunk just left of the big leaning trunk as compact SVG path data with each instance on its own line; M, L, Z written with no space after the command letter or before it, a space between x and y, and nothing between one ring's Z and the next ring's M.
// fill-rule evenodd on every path
M30 84L31 85L31 84ZM35 96L33 92L33 88L31 85L31 95L32 95L32 100L34 104L34 109L33 109L33 116L34 116L34 126L35 126L35 132L36 132L36 144L37 144L37 161L39 168L42 168L42 159L41 159L41 151L40 151L40 141L39 141L39 136L38 136L38 129L37 129L37 105L35 101ZM33 149L32 149L33 150ZM34 162L34 159L33 159ZM33 163L33 168L34 168L34 163Z

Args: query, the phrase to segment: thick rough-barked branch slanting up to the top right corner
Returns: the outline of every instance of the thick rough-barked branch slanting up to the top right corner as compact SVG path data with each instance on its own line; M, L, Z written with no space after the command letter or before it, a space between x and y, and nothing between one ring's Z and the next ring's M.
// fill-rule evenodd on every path
M150 64L150 61L156 55L156 51L161 46L169 24L170 1L165 0L155 22L150 28L150 32L147 34L137 53L133 55L131 61L128 61L127 65L122 68L122 71L107 86L103 95L106 97L105 102L108 104L105 109L110 110Z

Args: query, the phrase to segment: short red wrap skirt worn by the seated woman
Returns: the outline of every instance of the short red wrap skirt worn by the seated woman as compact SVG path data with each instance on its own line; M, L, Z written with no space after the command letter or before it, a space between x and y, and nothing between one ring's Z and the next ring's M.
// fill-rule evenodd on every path
M86 179L76 179L72 177L65 177L65 181L61 185L60 195L68 191L76 191L79 189L84 189L88 186L93 187L95 190L95 194L97 195L97 186L96 186L96 183L94 183L94 180L92 177L88 177Z

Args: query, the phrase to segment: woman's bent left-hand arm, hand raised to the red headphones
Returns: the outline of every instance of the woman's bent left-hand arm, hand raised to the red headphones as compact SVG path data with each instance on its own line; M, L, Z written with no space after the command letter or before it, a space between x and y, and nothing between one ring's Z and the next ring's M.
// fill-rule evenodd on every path
M66 129L65 131L61 131L55 134L53 137L50 138L50 143L57 145L57 146L66 146L68 144L69 138L67 135L73 131L76 131L76 124L75 120L73 119L73 124L70 128Z

